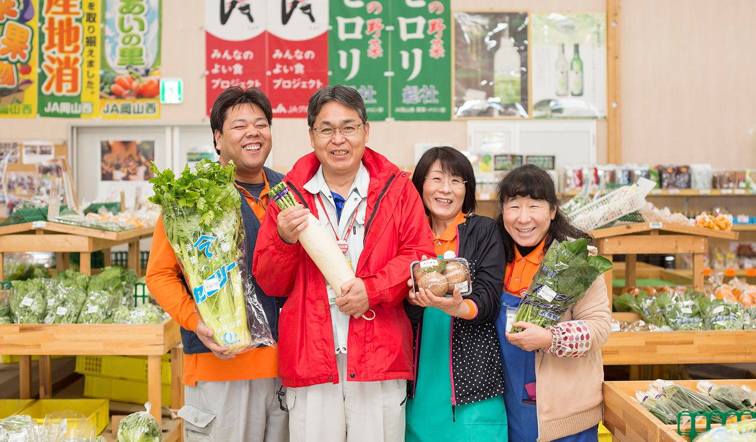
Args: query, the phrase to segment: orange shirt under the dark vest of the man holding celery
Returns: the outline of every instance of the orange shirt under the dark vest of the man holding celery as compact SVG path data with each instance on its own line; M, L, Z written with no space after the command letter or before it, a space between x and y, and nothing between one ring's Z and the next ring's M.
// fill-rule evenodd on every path
M262 222L268 208L268 178L265 188L257 200L244 188L246 204L252 207L257 218ZM238 186L237 186L238 187ZM249 259L252 259L249 257ZM181 327L194 331L199 315L194 307L194 298L181 284L183 274L178 266L173 247L163 229L163 219L159 218L150 247L150 262L147 263L147 285L150 293L160 306ZM275 378L278 376L277 347L258 347L245 353L237 354L232 360L220 360L213 353L196 353L184 355L184 384L194 386L197 381L240 381L244 379Z

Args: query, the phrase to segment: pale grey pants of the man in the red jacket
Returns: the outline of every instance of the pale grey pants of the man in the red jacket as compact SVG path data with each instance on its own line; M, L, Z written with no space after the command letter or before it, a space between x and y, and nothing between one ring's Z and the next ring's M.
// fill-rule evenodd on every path
M336 355L339 384L287 388L292 442L404 442L407 381L355 382Z

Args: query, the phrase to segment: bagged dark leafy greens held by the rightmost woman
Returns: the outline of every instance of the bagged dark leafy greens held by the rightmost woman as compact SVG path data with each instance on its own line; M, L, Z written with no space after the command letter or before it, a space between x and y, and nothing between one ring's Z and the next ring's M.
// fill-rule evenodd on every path
M596 278L611 268L612 262L605 257L588 253L585 238L554 241L522 297L515 322L531 322L541 327L556 324L569 307L584 297ZM522 328L515 327L515 331Z

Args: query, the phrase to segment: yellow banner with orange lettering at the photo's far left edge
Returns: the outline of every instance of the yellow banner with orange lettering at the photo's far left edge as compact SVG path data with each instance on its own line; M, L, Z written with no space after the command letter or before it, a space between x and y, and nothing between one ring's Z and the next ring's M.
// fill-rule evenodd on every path
M0 117L36 117L35 5L23 0L0 5Z

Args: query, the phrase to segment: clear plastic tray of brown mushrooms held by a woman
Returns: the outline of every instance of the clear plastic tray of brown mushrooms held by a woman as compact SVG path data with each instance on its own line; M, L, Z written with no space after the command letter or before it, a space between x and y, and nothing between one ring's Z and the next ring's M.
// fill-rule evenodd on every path
M464 258L430 258L411 263L412 288L425 288L435 296L451 297L454 288L462 296L472 293L469 263Z

